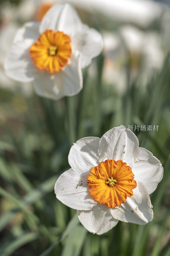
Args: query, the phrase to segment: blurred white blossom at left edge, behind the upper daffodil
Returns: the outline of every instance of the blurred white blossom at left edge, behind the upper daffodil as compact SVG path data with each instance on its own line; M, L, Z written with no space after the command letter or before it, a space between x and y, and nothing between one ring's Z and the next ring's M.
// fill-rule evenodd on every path
M8 20L7 24L0 27L0 87L11 91L22 91L25 96L32 94L30 83L18 83L9 78L4 71L5 56L13 43L13 38L18 30L18 25Z

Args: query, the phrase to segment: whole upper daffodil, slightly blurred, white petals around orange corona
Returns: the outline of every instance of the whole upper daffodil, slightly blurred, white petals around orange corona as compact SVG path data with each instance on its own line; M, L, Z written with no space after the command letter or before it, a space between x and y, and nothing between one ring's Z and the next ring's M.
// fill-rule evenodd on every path
M41 23L18 30L4 67L12 79L34 81L37 94L57 100L82 89L81 69L102 48L101 34L83 24L72 6L56 4Z

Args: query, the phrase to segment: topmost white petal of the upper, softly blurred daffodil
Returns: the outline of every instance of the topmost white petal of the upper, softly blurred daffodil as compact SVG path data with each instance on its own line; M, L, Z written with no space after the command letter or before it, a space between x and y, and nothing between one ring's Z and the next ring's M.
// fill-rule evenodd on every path
M81 27L81 20L71 5L56 4L44 16L39 32L43 33L46 29L52 29L74 36L81 30Z

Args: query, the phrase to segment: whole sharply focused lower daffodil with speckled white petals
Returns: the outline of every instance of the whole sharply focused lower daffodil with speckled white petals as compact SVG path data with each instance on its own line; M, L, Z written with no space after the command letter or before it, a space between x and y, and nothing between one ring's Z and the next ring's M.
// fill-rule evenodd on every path
M76 209L82 225L101 235L119 220L146 224L153 218L149 197L163 176L159 160L139 148L136 135L115 127L102 138L86 137L70 149L71 169L55 183L56 197Z

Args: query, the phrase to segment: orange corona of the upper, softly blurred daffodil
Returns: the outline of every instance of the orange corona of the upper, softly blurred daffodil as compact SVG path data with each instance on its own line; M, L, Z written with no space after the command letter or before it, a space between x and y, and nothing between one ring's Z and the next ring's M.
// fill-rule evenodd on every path
M71 57L71 40L63 32L46 30L30 47L33 64L49 73L59 72Z

